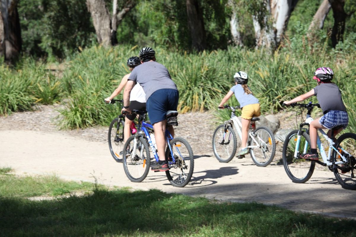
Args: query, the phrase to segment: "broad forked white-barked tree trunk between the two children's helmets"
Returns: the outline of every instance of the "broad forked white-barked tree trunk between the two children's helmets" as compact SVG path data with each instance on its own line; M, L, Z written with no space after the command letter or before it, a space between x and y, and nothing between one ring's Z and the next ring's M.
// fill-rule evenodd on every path
M287 28L290 14L297 5L298 0L267 0L266 16L262 22L258 22L253 16L253 27L255 28L256 47L265 45L277 48L281 43L282 35ZM272 20L272 26L268 26L268 15Z

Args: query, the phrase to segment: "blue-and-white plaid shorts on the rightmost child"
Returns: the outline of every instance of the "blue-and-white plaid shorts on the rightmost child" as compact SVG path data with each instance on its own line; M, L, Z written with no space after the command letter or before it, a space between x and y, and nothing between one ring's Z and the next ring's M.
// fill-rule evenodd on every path
M319 123L327 129L340 125L345 129L349 124L349 116L346 111L330 110L319 119Z

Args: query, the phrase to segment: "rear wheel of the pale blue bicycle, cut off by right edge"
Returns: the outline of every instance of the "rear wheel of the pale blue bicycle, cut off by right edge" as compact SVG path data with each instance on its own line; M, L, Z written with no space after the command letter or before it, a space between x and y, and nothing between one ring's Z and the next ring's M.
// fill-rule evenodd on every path
M356 134L342 134L336 141L336 147L345 156L346 163L334 166L334 175L342 188L356 190ZM333 151L332 161L341 161L341 157Z

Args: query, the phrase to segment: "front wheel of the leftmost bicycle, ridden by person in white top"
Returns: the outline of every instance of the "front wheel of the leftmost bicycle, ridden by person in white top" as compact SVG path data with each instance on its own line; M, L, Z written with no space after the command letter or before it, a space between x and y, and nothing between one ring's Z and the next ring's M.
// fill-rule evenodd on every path
M122 151L122 141L124 141L124 121L118 118L112 120L109 126L108 143L112 158L115 161L121 162L122 157L120 152Z

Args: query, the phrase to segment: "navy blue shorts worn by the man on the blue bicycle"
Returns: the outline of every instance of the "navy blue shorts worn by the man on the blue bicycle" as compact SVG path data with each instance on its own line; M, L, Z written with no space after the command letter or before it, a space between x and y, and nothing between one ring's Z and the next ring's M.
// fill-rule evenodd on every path
M146 101L146 110L151 124L165 120L167 111L177 110L178 99L179 93L174 89L160 89L153 92Z

